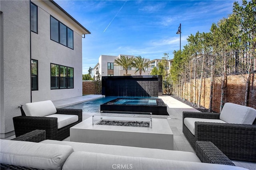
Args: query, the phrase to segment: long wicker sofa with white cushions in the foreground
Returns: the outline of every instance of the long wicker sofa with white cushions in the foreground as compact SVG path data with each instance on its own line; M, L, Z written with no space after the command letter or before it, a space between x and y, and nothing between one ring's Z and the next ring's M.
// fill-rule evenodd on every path
M211 142L197 141L196 156L192 152L177 150L44 139L44 130L26 133L13 139L15 141L1 139L1 169L245 170L234 166L233 162ZM36 143L39 141L40 143Z

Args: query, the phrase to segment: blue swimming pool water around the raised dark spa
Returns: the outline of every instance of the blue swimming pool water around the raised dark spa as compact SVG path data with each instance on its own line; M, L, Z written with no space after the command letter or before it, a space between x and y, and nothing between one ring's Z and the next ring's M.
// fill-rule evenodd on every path
M120 97L118 97L118 96L106 96L104 98L98 98L98 99L95 99L95 100L90 100L88 102L83 102L83 103L80 103L80 104L66 106L66 107L63 107L63 108L82 109L83 113L86 113L86 112L100 113L100 105L101 104L104 104L106 102L109 102L109 101L117 99L117 98L120 98ZM122 98L124 98L124 97L122 97ZM130 98L134 98L134 97L127 97L126 98L127 101L129 101ZM146 99L147 98L147 99L154 100L154 98L156 98L156 97L152 97L152 98L136 97L136 98L140 98L140 99ZM122 102L124 102L124 101L122 101ZM131 104L131 102L127 102L126 104L129 104L129 103ZM154 105L153 101L150 101L149 103L152 103L152 105Z

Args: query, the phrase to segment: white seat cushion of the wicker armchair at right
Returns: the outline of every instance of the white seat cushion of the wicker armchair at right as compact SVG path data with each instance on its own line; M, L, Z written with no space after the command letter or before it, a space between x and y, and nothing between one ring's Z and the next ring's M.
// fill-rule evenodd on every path
M185 117L184 118L184 125L188 128L188 130L195 135L195 122L201 121L201 122L214 122L214 123L226 123L220 119L200 119L200 118L194 118L194 117Z

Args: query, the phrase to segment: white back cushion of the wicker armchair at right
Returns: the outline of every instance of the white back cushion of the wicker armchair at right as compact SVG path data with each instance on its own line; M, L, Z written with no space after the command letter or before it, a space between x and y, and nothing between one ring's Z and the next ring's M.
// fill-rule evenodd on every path
M227 123L252 125L256 118L256 109L239 104L225 103L220 119Z

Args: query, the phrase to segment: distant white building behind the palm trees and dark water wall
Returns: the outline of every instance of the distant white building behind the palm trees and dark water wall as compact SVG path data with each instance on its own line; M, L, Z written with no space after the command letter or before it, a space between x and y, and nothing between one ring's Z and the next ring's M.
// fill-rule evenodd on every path
M98 68L99 73L101 76L125 76L125 70L122 66L117 66L116 63L114 63L115 59L120 58L120 56L125 57L135 57L134 55L118 55L118 56L111 56L111 55L100 55L99 57L99 63L94 66L94 76L96 76L96 68ZM145 59L146 61L149 61L150 59ZM150 75L150 70L148 67L145 67L145 72L142 71L141 75ZM128 69L128 75L129 76L139 76L139 71L136 72L136 68L130 67Z

